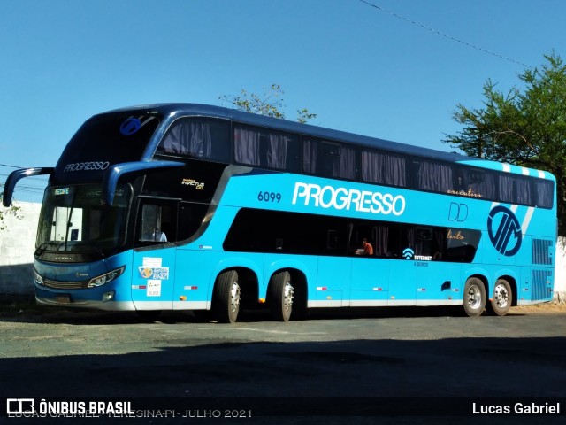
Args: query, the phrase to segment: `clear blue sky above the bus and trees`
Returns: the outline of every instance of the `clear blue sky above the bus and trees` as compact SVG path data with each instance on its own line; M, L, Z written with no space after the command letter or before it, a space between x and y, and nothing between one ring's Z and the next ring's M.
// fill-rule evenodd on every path
M487 80L566 59L562 0L0 0L0 183L119 107L284 91L309 123L454 151ZM224 105L227 105L226 103ZM45 179L14 197L41 202Z

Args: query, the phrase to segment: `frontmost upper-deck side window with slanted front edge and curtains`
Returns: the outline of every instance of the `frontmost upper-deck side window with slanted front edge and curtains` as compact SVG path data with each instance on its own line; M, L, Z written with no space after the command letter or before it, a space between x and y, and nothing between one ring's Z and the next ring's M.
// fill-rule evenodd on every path
M157 152L229 162L230 124L201 118L177 120L159 143Z

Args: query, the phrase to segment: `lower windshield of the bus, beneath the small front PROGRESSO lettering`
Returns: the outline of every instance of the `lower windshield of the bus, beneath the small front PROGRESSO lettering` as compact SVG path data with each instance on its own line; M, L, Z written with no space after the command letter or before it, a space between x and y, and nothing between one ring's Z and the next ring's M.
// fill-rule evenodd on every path
M119 185L112 206L101 205L101 192L99 184L47 188L36 253L96 252L103 257L122 246L132 189L127 184Z

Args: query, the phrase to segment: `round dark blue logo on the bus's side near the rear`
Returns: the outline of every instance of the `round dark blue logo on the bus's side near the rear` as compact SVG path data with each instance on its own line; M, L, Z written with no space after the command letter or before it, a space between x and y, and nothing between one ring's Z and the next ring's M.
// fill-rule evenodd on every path
M497 205L489 212L487 232L495 250L506 257L515 255L521 248L521 224L515 214L505 206Z

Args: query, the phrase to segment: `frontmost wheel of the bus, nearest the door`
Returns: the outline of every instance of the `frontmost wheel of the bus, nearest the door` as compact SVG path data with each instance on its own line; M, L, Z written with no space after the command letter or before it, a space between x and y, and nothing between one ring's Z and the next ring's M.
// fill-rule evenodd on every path
M214 285L214 304L212 309L217 321L234 323L240 312L241 290L238 273L228 270L219 274Z

